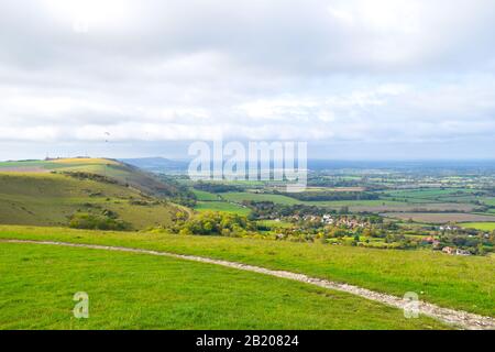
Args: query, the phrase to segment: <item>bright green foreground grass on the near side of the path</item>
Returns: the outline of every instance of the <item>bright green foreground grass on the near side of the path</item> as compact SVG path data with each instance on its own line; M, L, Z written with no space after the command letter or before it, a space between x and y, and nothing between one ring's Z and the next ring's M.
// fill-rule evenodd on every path
M443 329L348 294L167 257L0 243L0 329ZM89 296L88 319L73 316Z

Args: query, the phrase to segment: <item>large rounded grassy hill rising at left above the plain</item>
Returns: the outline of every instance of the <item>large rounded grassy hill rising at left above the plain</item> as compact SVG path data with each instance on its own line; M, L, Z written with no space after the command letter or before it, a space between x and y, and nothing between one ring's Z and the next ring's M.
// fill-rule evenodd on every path
M0 163L0 223L68 226L80 215L119 219L140 230L167 226L176 191L110 160Z

